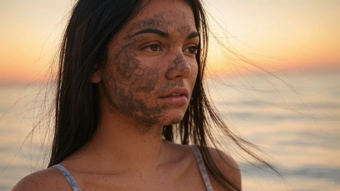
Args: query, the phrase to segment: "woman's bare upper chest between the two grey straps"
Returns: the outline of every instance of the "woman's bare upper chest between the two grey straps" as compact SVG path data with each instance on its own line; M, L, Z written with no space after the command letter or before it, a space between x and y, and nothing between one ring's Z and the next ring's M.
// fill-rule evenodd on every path
M113 175L75 173L74 178L82 191L206 191L195 158Z

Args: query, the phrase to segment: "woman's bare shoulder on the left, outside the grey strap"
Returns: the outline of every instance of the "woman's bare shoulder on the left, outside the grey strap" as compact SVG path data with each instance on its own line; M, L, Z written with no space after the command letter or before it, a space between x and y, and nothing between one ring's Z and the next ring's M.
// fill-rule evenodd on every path
M27 175L21 179L12 191L71 191L64 175L50 167Z

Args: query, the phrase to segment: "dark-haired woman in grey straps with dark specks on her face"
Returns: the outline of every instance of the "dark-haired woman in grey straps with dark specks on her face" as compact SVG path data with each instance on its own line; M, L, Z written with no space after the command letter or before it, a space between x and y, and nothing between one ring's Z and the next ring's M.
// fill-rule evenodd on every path
M262 160L207 101L206 48L200 0L79 0L61 47L49 168L13 191L240 191L236 162L209 147L211 128Z

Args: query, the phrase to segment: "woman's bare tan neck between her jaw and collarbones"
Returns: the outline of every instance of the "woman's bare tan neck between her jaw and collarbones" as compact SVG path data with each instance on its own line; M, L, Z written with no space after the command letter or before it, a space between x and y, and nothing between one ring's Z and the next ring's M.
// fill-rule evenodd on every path
M166 161L163 142L161 126L136 122L110 111L102 113L85 153L102 164L119 164L121 170L150 170Z

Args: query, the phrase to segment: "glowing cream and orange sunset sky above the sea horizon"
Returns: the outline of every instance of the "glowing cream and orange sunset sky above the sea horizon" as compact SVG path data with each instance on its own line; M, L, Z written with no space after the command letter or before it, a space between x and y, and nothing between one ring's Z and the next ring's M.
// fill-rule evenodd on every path
M42 80L73 2L0 0L0 84ZM276 69L340 68L340 0L204 3L214 33L210 35L248 59ZM221 46L213 41L210 48L208 68L228 70L228 53L218 54Z

